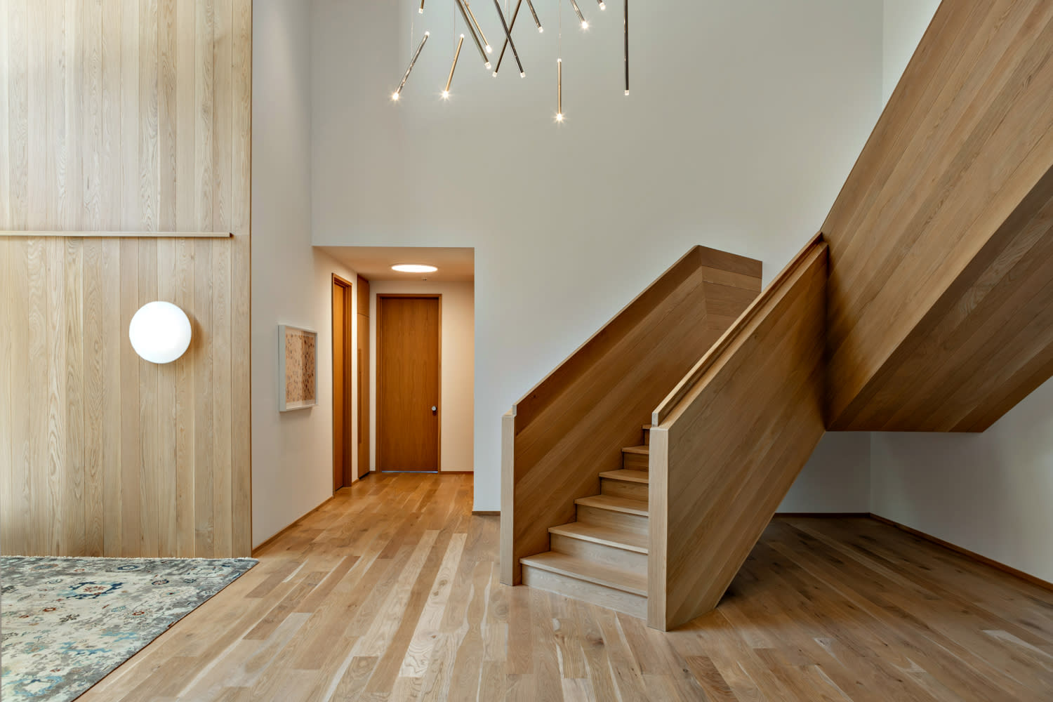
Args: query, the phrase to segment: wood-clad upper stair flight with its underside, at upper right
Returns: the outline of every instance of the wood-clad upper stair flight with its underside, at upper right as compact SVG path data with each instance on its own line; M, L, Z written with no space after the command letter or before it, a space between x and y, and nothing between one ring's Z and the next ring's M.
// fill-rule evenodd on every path
M945 2L822 226L828 426L981 432L1053 374L1053 4Z

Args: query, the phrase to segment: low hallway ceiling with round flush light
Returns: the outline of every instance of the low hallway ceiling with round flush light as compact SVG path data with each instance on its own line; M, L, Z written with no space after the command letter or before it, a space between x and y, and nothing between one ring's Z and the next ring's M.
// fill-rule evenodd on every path
M429 246L319 246L366 280L474 281L475 249ZM397 273L396 263L426 263L435 273Z

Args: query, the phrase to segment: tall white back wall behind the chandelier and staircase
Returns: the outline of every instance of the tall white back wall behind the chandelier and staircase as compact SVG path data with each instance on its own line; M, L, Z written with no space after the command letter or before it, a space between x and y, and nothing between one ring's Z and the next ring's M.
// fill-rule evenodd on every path
M315 243L475 247L476 509L499 506L500 417L524 392L694 244L759 258L770 280L881 107L880 0L636 3L629 98L619 3L582 3L587 34L563 3L556 125L557 4L535 3L544 34L517 32L525 79L511 56L492 78L469 40L443 103L452 3L314 2ZM411 21L432 35L394 104ZM802 502L867 475L816 461Z

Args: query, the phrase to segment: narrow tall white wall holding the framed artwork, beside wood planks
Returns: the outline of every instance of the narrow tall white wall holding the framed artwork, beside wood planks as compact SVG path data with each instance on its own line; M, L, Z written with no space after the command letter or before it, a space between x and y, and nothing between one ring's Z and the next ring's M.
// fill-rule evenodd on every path
M253 5L253 545L333 495L331 275L311 247L311 23ZM318 406L278 412L278 324L318 332Z

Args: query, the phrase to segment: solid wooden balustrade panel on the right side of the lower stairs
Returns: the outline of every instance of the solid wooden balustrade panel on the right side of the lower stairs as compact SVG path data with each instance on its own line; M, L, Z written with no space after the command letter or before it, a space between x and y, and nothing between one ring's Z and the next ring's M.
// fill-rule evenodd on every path
M654 413L648 624L713 609L823 434L816 238Z

